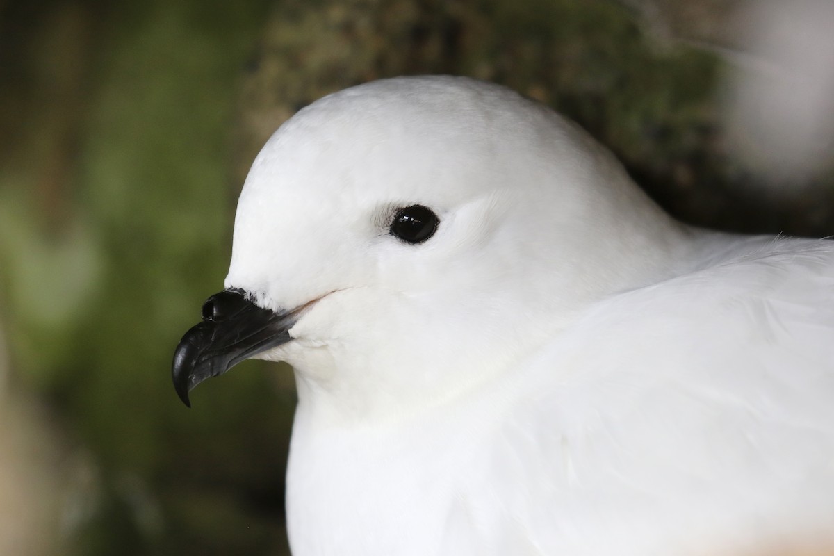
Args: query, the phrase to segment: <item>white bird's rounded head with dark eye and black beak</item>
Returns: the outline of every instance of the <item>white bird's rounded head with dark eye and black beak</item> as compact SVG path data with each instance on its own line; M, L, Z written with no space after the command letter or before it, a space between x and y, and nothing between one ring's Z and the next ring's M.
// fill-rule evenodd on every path
M203 379L265 358L294 367L302 403L426 407L639 283L663 264L656 232L670 227L605 149L506 88L349 88L290 118L255 159L226 289L180 343L174 383L188 403Z

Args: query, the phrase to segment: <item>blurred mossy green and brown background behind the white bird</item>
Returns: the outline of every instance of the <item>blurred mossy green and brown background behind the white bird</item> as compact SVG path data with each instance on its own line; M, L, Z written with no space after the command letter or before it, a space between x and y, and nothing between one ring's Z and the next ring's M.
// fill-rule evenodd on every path
M727 153L737 3L0 0L0 554L287 553L291 373L244 363L187 410L169 368L249 163L325 93L505 83L688 222L834 233L830 173L756 189Z

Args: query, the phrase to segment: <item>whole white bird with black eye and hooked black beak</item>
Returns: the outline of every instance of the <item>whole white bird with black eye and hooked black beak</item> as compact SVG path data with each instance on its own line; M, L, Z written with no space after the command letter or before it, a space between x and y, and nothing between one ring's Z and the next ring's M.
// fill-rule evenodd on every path
M834 542L834 243L678 223L506 88L301 110L254 161L225 287L174 383L293 366L296 556Z

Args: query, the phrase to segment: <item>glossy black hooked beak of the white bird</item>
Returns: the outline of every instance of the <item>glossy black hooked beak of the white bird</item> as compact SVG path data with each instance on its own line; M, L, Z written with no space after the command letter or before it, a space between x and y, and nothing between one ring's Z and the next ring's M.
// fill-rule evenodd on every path
M203 303L203 322L179 341L173 353L173 388L189 408L188 392L206 378L287 343L298 313L274 313L259 308L242 289L225 289Z

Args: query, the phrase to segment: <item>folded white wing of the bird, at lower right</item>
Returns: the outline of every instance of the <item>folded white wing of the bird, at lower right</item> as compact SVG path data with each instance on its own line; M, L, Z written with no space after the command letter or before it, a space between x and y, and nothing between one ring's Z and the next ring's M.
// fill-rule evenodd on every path
M834 243L780 240L621 293L522 374L532 388L470 473L505 501L470 503L493 537L508 513L540 553L731 553L834 531Z

